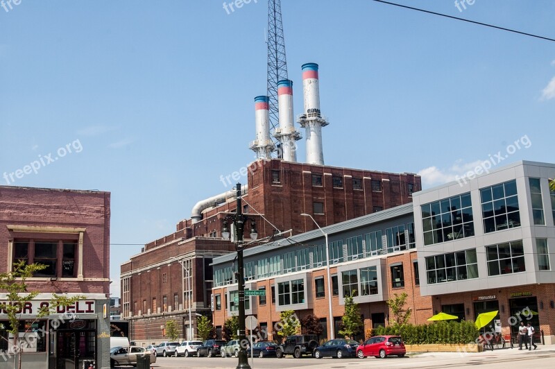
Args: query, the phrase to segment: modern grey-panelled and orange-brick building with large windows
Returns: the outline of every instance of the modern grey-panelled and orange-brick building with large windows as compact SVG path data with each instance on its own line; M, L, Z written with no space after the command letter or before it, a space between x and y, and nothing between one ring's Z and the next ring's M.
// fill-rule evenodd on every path
M405 291L411 323L427 323L439 311L475 320L497 310L502 334L515 334L513 323L529 318L545 342L554 343L555 192L548 180L554 177L555 164L518 162L419 191L411 204L323 228L330 237L335 330L352 289L360 291L355 301L366 330L386 324L384 302ZM328 325L322 234L306 232L291 242L245 251L246 289L266 290L265 298L249 298L247 314L269 328L269 339L276 338L271 327L285 309L300 317L315 314ZM218 333L237 314L231 259L214 259Z

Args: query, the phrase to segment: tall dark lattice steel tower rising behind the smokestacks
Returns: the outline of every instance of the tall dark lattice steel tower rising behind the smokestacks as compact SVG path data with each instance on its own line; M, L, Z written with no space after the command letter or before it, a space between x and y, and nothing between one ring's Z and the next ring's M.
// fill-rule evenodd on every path
M279 127L278 82L287 80L281 0L268 0L268 108L272 130ZM280 144L278 141L276 144ZM278 150L278 156L282 150Z

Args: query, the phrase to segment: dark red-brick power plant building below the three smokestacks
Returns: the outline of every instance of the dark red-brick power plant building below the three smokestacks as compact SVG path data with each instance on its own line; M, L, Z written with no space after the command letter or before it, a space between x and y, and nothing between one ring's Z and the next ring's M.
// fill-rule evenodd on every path
M316 228L300 216L303 212L314 214L321 225L332 225L409 203L412 192L421 189L420 177L410 173L282 160L253 162L247 182L242 210L255 218L259 237L270 236L274 228L257 213L279 230L300 234ZM200 214L180 221L176 232L146 244L143 252L121 264L122 318L130 320L133 341L164 341L168 319L178 320L181 338L195 336L196 314L211 314L210 264L214 257L234 251L232 243L221 239L223 219L235 211L233 194L199 202L205 204Z

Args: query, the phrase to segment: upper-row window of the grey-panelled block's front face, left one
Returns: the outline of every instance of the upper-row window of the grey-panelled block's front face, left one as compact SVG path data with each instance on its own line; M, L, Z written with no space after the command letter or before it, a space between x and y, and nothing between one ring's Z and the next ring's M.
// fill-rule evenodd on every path
M474 236L470 192L422 205L424 245Z

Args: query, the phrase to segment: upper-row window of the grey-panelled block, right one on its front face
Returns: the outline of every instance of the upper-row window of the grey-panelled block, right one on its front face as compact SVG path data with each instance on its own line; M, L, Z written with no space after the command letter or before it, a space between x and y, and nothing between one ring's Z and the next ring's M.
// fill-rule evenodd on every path
M480 189L484 233L520 227L516 181Z

